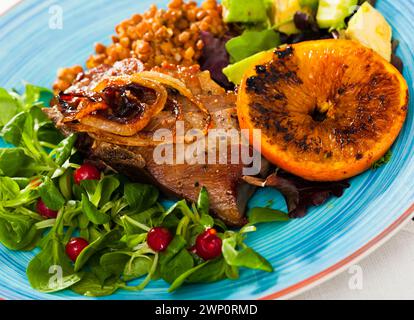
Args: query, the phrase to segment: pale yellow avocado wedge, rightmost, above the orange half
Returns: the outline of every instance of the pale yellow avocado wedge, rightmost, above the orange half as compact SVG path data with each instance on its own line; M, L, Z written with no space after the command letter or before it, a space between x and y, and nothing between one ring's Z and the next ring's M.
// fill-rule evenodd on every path
M368 2L362 4L349 20L345 31L348 39L356 40L391 61L392 28L384 16Z

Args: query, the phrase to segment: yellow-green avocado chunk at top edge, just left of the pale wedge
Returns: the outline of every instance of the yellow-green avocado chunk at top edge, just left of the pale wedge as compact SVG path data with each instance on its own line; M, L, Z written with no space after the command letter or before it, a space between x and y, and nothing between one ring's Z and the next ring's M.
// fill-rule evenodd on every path
M322 29L344 29L345 18L350 16L358 0L320 0L316 21Z

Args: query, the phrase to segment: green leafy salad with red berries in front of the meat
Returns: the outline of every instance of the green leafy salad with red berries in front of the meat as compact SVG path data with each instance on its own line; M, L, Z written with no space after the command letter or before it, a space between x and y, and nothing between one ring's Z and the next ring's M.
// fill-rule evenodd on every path
M286 214L256 208L249 224L228 230L210 215L204 188L197 203L165 209L154 186L84 163L76 136L63 137L43 114L50 98L32 85L23 95L0 89L1 136L14 145L0 149L0 242L40 249L27 267L34 289L104 296L163 279L174 291L236 279L240 268L273 270L244 240L254 224Z

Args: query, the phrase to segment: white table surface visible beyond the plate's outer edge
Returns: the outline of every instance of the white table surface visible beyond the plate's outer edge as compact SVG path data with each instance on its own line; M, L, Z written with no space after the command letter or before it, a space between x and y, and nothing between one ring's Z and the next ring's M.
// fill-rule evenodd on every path
M19 1L0 0L0 14ZM362 288L350 289L354 274L347 270L294 299L414 299L414 222L410 221L358 266Z

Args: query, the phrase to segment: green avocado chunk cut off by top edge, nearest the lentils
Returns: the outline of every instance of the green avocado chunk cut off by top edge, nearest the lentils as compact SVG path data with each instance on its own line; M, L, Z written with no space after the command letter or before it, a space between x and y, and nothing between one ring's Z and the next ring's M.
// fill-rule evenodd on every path
M267 1L267 0L266 0ZM226 23L261 23L268 21L265 0L223 0Z

